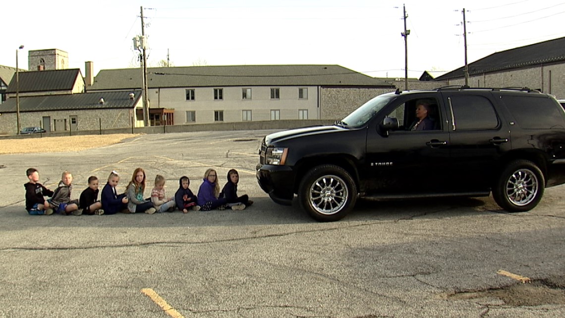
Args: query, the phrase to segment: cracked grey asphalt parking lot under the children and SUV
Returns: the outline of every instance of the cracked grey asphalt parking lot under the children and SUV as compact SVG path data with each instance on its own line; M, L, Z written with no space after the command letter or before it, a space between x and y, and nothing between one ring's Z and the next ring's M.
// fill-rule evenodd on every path
M530 212L492 197L360 201L333 223L273 203L255 179L271 131L136 136L80 152L0 155L0 317L564 317L563 186ZM0 140L0 145L2 141ZM29 216L25 169L73 198L89 175L208 167L255 204L242 211ZM146 190L149 192L149 190ZM146 192L146 193L147 193Z

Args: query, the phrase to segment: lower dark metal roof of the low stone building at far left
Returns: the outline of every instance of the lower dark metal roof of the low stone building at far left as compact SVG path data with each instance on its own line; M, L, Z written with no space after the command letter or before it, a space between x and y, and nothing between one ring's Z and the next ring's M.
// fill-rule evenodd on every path
M129 94L134 93L134 98ZM20 97L20 112L49 110L86 110L133 108L140 100L141 91L91 92ZM100 103L104 98L104 103ZM16 98L8 98L0 104L0 113L15 113Z

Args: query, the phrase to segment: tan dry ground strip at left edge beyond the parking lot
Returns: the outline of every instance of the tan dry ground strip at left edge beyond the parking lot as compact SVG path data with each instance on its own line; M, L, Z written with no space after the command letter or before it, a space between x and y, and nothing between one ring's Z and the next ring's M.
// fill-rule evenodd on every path
M0 154L81 151L120 143L137 134L80 135L0 140Z

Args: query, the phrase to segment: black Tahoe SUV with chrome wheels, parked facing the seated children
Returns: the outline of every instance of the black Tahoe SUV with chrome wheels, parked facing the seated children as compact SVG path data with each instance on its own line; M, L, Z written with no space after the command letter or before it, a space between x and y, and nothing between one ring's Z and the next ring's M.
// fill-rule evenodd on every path
M427 128L414 130L421 104ZM397 90L333 126L266 136L257 179L276 203L297 194L318 221L340 220L358 197L492 192L509 212L527 211L565 183L565 110L527 88Z

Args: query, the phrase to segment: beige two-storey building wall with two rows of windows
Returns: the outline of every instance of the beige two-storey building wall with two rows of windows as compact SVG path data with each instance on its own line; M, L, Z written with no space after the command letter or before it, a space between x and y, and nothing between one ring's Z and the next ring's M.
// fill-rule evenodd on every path
M318 88L308 88L308 98L298 98L298 86L218 87L223 100L214 100L214 87L161 88L149 90L151 108L175 109L175 124L185 124L186 111L195 111L196 123L214 123L214 111L224 112L224 122L243 121L243 110L251 110L252 121L270 121L271 110L280 119L298 119L298 110L307 110L308 119L318 117ZM242 98L242 89L251 88L251 98ZM279 99L271 99L271 88L279 88ZM302 87L301 87L302 88ZM194 89L194 100L186 100L186 89ZM192 122L190 122L192 123Z

